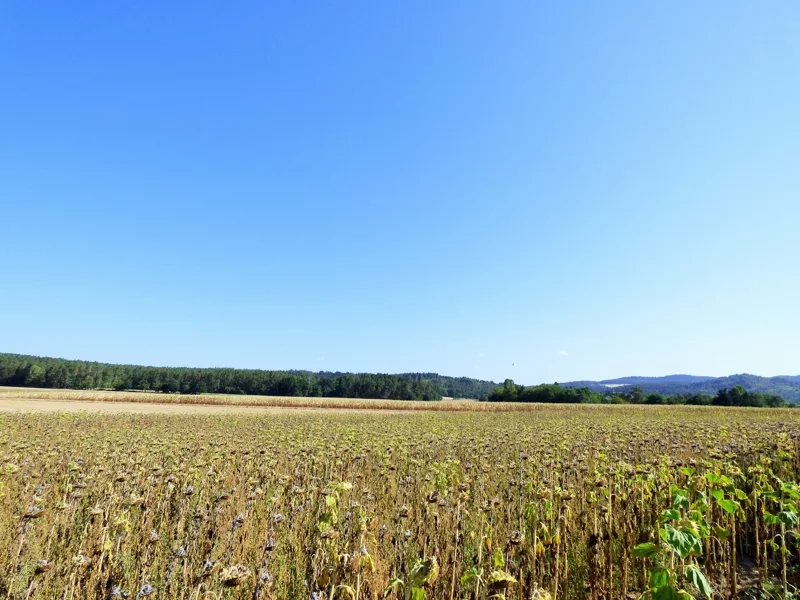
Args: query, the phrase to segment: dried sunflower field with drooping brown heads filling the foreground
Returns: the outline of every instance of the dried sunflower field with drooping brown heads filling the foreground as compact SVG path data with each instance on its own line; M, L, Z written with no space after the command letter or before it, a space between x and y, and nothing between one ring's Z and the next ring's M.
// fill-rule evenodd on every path
M0 415L0 598L779 598L798 431L689 407Z

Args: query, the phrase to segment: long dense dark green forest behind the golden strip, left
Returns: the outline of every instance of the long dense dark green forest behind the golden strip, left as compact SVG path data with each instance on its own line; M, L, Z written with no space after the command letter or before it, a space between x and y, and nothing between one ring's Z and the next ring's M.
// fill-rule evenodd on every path
M258 394L393 400L485 399L497 384L436 373L382 375L114 365L0 354L0 385L165 393Z

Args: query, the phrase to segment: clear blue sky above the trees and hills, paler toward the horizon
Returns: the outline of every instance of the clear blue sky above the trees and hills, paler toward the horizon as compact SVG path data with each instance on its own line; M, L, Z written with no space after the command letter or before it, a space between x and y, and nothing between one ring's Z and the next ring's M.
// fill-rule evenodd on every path
M0 351L798 374L800 4L3 2L0 219Z

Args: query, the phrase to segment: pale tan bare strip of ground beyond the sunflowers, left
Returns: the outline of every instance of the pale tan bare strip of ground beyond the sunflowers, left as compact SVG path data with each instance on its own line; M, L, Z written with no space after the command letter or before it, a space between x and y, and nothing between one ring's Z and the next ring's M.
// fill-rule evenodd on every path
M91 402L87 400L37 400L32 398L0 397L0 412L97 412L139 413L163 415L230 415L230 414L289 414L289 413L389 413L408 414L407 411L370 408L309 408L287 406L236 406L209 404L157 404L152 402Z

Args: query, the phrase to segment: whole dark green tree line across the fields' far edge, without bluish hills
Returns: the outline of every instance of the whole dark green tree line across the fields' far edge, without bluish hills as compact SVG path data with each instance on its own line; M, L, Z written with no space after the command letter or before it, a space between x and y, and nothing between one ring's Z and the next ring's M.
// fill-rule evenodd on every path
M490 402L571 404L692 404L708 406L794 406L774 393L747 391L742 385L716 394L598 391L558 384L526 387L507 379L503 385L437 373L339 373L145 367L0 353L0 385L62 389L145 390L182 394L255 394L391 400L440 400L442 396Z

